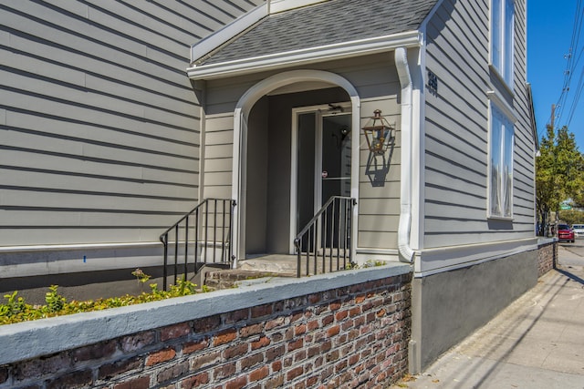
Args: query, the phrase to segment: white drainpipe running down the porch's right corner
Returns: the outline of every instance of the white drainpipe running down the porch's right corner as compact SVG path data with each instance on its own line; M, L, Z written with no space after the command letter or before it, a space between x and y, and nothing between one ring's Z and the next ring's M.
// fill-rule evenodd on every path
M401 190L398 251L400 260L413 262L415 252L410 246L412 229L412 75L405 47L395 49L395 67L401 86Z

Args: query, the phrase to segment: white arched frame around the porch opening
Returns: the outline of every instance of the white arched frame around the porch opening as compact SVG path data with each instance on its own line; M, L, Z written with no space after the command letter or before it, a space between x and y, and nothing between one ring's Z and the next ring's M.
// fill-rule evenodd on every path
M350 98L351 103L351 128L360 128L360 97L357 89L349 81L337 74L323 70L291 70L267 77L250 87L237 101L234 110L234 148L232 168L232 199L235 200L234 222L232 228L232 252L234 255L233 266L237 261L245 258L245 174L246 174L246 143L247 143L247 118L257 100L269 92L303 81L326 82L331 86L342 87ZM351 138L351 197L359 200L359 136ZM357 246L357 230L359 204L353 208L353 236L351 237L351 251L353 258ZM293 244L292 244L293 246ZM293 251L291 251L293 252Z

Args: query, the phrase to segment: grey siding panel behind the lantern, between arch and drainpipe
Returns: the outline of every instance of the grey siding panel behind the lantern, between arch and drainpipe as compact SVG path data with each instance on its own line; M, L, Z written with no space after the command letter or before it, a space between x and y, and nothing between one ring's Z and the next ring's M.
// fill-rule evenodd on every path
M339 69L361 97L360 127L381 109L381 115L396 128L394 147L384 156L373 157L363 131L360 134L359 248L397 247L400 219L401 116L397 96L400 82L393 54L371 56L352 68Z

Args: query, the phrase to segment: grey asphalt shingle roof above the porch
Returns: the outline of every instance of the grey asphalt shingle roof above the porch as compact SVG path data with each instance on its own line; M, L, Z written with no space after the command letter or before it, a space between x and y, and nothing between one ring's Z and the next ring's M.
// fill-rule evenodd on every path
M437 0L329 0L267 15L204 65L418 29Z

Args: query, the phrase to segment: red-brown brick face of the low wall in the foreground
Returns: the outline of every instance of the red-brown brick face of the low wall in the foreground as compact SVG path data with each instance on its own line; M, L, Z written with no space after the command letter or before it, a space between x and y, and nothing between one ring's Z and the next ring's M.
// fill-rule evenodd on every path
M265 302L230 312L220 309L224 291L214 292L215 314L162 327L153 319L151 329L1 365L0 389L383 388L397 381L407 373L411 273L333 288L326 285L334 276L327 277L273 301L276 289L251 291L265 293L258 298Z

